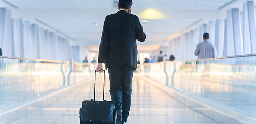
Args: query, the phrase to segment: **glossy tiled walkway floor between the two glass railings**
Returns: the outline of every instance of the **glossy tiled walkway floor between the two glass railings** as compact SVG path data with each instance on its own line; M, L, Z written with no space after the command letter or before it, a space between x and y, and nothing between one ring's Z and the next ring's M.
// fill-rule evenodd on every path
M108 78L107 78L108 79ZM102 77L97 79L96 99L102 99ZM0 116L0 123L79 123L79 108L83 100L93 98L93 82L76 84L48 98L17 111ZM109 81L105 96L110 100ZM136 74L132 84L132 106L127 123L216 123L193 111L165 92L153 87Z

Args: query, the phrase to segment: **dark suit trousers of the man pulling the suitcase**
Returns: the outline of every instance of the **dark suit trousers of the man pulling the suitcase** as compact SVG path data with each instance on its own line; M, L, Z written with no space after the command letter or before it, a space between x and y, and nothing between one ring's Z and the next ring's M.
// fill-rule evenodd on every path
M122 109L123 122L127 122L131 107L133 72L130 66L108 67L111 99L116 108Z

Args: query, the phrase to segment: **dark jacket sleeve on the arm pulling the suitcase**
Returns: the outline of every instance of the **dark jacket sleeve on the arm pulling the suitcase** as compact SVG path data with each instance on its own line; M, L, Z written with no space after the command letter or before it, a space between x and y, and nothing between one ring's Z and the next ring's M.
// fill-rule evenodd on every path
M109 42L109 30L108 30L107 17L106 17L103 25L103 30L102 30L101 44L99 46L98 63L105 63L106 61L108 42Z

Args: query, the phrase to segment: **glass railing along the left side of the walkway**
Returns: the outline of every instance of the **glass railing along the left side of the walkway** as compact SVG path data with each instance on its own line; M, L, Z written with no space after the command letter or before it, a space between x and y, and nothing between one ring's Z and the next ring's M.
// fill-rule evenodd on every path
M86 63L0 56L0 108L86 81L90 72Z

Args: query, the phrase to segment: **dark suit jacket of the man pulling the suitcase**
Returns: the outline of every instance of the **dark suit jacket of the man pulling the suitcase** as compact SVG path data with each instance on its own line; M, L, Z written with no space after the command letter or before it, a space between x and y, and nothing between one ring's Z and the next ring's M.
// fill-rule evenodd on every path
M136 39L144 42L146 35L139 18L124 10L105 19L98 62L110 66L130 66L137 69Z

